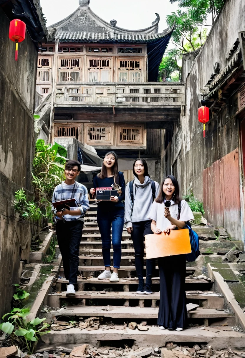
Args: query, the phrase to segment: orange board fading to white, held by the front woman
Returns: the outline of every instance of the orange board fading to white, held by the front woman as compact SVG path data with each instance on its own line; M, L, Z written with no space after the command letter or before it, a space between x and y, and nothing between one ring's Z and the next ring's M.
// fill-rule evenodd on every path
M182 255L191 253L188 229L171 230L170 234L145 235L146 258Z

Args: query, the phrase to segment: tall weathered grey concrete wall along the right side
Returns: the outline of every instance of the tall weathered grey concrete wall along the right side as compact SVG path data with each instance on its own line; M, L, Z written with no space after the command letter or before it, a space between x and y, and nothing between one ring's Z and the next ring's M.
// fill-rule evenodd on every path
M203 200L203 170L239 147L239 123L234 117L237 110L236 95L206 125L205 139L202 124L198 122L198 107L201 106L201 90L210 78L215 62L220 63L221 69L226 66L226 58L238 33L244 30L244 9L245 0L227 0L191 68L188 61L188 68L183 68L183 74L187 76L183 78L186 82L185 115L174 127L171 155L166 160L165 172L176 173L182 193L192 189L195 197L200 200ZM167 153L170 154L169 151ZM209 216L208 207L206 209L209 221L212 216ZM237 222L240 222L240 207L236 208L236 214ZM224 217L225 227L231 227L230 220ZM241 239L240 228L230 234L237 240Z

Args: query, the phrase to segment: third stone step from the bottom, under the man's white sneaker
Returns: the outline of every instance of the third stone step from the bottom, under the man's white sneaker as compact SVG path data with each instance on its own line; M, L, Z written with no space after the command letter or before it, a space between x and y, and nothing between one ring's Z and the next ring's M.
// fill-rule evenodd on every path
M224 308L224 297L220 294L213 293L197 293L197 291L187 291L186 292L187 303L197 303L200 307L203 308ZM151 300L151 306L156 307L159 305L157 302L160 299L160 292L153 292L151 295L138 295L135 291L117 291L117 292L104 292L104 291L78 291L75 296L66 296L66 292L58 292L48 295L48 306L50 307L61 307L61 301L64 300L83 300L84 305L88 305L87 300L94 300L96 305L107 306L108 300L113 300L113 304L121 305L120 302L134 300L138 301L138 306L143 307L145 300ZM104 304L103 304L104 302Z

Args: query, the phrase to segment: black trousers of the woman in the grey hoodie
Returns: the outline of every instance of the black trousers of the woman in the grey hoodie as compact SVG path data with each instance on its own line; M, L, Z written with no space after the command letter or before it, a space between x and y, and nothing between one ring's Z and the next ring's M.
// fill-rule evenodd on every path
M131 238L134 244L134 253L135 253L135 269L139 280L143 280L143 270L144 270L144 236L153 234L152 229L150 228L151 220L141 221L137 223L132 223L133 231L131 232ZM156 266L155 259L146 260L146 287L152 284L152 275L153 270Z

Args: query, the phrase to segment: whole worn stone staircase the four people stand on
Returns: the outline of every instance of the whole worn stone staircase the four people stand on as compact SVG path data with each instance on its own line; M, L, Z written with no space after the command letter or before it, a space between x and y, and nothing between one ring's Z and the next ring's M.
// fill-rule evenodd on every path
M101 325L128 324L131 321L140 324L147 322L148 330L138 329L81 330L73 327L56 331L42 337L43 344L102 344L111 340L133 340L138 344L164 345L166 342L193 342L212 344L215 349L244 346L245 334L230 330L200 329L201 327L234 327L236 315L230 309L224 295L217 293L214 282L208 277L207 262L222 262L224 254L230 248L242 247L239 241L200 241L202 255L195 262L187 263L186 295L187 304L194 303L199 308L188 311L188 329L182 332L161 331L157 326L159 306L159 272L156 265L152 281L152 295L138 295L136 288L138 279L134 266L134 249L130 235L124 229L122 233L122 260L119 269L119 282L98 280L97 276L104 270L102 258L102 243L99 228L96 223L96 205L92 204L86 214L85 226L80 244L80 265L75 296L66 297L67 281L59 278L49 292L47 305L56 309L41 313L41 318L48 322L54 321L82 321L94 317ZM111 255L112 255L111 250ZM111 257L111 264L113 263ZM157 261L156 261L157 264ZM145 267L144 267L145 274ZM202 275L202 277L198 277ZM61 266L59 277L63 275ZM59 308L59 309L57 309ZM217 330L216 330L217 331ZM103 343L103 344L104 344ZM111 343L110 343L111 344Z

